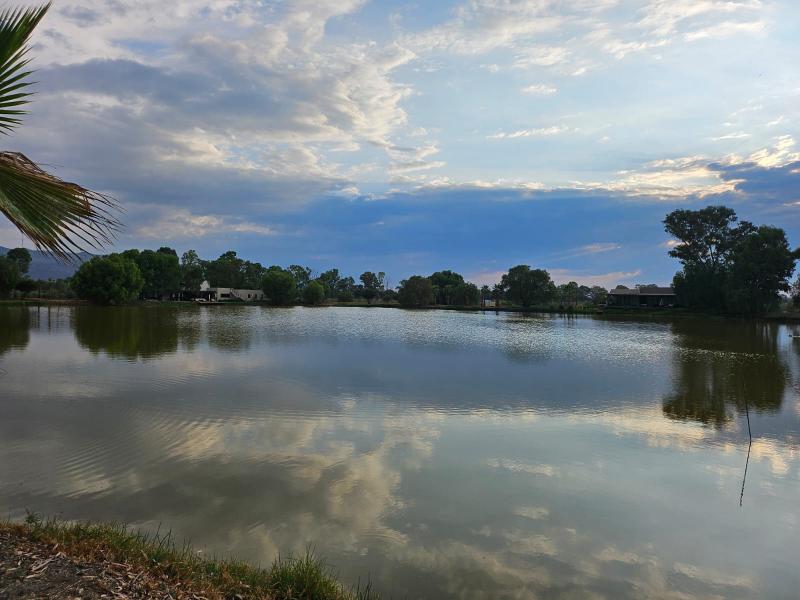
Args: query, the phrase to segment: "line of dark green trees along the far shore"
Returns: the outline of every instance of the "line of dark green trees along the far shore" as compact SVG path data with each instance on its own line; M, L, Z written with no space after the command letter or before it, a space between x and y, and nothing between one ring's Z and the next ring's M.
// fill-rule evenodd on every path
M782 229L739 221L725 206L675 210L663 224L675 240L669 255L682 266L673 279L679 306L758 316L777 308L787 292L800 306L800 278L794 285L789 283L800 250L790 248ZM26 276L30 262L24 248L0 257L0 294L45 289L54 295L124 304L137 299L189 299L208 281L217 288L263 290L267 301L275 305L364 301L424 307L478 306L492 301L567 311L605 304L608 295L601 286L574 281L556 285L546 270L529 265L512 267L491 287L479 288L461 274L444 270L412 275L393 289L384 272L365 271L356 280L338 269L315 274L296 264L265 267L232 250L214 260L204 260L194 250L178 257L168 247L126 250L84 262L66 282L32 281Z

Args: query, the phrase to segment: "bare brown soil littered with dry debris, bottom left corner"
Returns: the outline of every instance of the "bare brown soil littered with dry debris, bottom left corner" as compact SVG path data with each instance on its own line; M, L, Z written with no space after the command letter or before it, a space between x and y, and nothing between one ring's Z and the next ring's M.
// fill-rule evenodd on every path
M0 530L0 600L205 598L141 569L111 561L87 562L58 544L34 542Z

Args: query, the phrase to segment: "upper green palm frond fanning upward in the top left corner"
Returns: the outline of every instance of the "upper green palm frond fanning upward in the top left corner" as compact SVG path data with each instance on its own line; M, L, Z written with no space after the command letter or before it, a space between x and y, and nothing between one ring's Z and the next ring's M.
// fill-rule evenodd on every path
M28 40L50 8L50 3L38 8L5 9L0 12L0 132L9 133L19 125L20 117L26 113L22 108L30 102L31 93L25 89L31 85L26 70L30 62L26 58Z

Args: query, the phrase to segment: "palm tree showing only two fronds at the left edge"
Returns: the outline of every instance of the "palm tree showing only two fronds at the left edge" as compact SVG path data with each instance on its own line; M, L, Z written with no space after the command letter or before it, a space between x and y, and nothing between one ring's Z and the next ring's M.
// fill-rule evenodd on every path
M11 133L30 102L28 40L50 8L0 12L0 131ZM0 213L38 248L66 259L111 242L112 198L62 181L18 152L0 152Z

